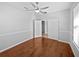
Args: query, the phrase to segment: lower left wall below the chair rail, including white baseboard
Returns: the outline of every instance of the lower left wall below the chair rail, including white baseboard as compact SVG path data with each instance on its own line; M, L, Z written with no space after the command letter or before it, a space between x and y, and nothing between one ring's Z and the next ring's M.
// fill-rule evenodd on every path
M4 48L1 48L0 53L3 51L6 51L12 47L15 47L16 45L19 45L25 41L28 41L32 38L32 35L30 35L30 31L18 31L18 32L12 32L12 33L6 33L1 34L0 39L2 40L2 45L0 45L0 48L4 46ZM15 40L14 40L15 39ZM4 41L5 40L5 41ZM8 45L6 45L6 41L10 41ZM17 41L19 40L19 41ZM12 43L12 44L11 44ZM5 46L6 45L6 46Z

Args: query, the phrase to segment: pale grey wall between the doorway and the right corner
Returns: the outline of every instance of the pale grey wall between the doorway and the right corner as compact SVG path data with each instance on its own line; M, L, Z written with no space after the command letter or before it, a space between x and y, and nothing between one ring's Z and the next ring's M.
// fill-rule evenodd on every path
M48 34L51 38L69 42L71 39L70 9L50 13L48 17Z

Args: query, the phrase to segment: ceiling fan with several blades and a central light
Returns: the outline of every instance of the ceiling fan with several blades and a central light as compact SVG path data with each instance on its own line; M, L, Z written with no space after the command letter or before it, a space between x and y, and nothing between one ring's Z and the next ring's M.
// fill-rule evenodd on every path
M32 3L32 2L31 2L31 5L33 6L34 9L29 9L29 8L27 8L27 7L24 7L24 8L26 9L26 11L34 11L35 13L46 14L47 12L46 12L46 11L43 11L43 10L49 8L49 6L40 8L40 7L39 7L39 2L35 2L35 3Z

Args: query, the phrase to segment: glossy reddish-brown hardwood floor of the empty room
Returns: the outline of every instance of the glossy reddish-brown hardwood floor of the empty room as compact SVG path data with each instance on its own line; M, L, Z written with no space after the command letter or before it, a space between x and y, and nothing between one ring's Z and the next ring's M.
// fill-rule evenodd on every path
M37 37L0 53L5 57L74 57L68 43Z

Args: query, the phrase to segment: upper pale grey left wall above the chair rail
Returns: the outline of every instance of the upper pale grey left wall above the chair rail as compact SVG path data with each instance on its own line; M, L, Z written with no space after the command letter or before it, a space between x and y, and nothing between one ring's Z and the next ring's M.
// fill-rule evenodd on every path
M7 3L0 3L0 16L0 34L30 31L31 12L19 10Z

